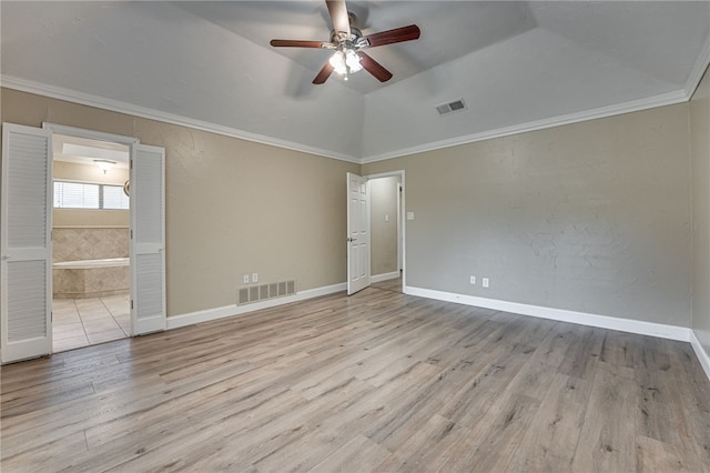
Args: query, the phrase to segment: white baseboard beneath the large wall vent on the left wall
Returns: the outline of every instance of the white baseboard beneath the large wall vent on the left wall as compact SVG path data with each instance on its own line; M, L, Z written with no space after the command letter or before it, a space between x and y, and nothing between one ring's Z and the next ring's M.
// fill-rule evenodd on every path
M326 285L323 288L310 289L307 291L301 291L294 295L287 295L285 298L271 299L264 302L256 302L246 305L224 305L221 308L206 309L204 311L189 312L185 314L172 315L168 318L166 329L178 329L180 326L194 325L195 323L209 322L211 320L224 319L227 316L243 315L250 312L258 311L262 309L271 309L277 305L290 304L292 302L305 301L306 299L318 298L321 295L328 295L336 292L345 291L347 289L346 283Z

